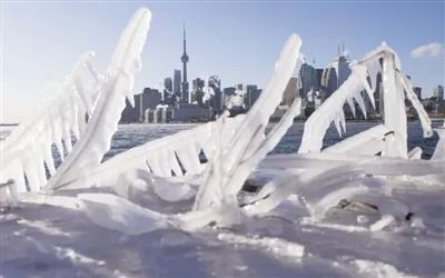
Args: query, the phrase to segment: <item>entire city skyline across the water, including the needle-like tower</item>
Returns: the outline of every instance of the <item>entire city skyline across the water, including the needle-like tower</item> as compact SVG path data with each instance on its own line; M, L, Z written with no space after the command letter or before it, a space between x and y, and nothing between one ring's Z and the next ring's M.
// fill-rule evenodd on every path
M180 58L182 71L175 69L174 77L164 80L162 89L145 88L139 95L134 96L134 103L127 101L122 111L120 122L201 122L215 119L225 109L231 116L245 113L258 99L261 89L256 85L235 85L221 88L218 76L210 76L207 81L196 78L191 81L191 88L187 79L187 54L186 29L184 29L184 53ZM315 63L315 62L314 62ZM350 76L350 60L343 50L338 49L338 56L326 67L316 68L305 61L297 77L293 77L284 92L283 101L271 119L279 119L297 96L301 98L300 118L309 117L327 98L333 95ZM408 77L409 78L409 77ZM369 80L370 82L370 80ZM383 109L383 85L382 76L378 75L375 89L375 108L372 107L367 95L363 92L367 119L382 119ZM432 98L422 98L422 88L414 87L418 99L422 100L426 111L436 117L445 116L444 87L437 86ZM356 111L358 105L356 103ZM407 102L408 117L415 119L415 109ZM353 115L348 106L345 106L346 119L365 119L362 113Z

